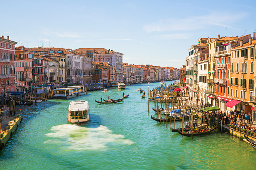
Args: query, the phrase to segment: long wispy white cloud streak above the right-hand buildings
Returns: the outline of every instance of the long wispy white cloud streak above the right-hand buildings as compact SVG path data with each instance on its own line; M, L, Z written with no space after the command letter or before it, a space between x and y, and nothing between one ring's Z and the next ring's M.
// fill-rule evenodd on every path
M214 12L206 16L192 16L184 19L171 18L164 19L154 22L150 25L144 27L144 30L147 32L161 32L161 31L188 31L188 30L197 30L205 29L210 26L221 26L232 28L227 24L232 24L240 21L245 18L247 13L222 13Z

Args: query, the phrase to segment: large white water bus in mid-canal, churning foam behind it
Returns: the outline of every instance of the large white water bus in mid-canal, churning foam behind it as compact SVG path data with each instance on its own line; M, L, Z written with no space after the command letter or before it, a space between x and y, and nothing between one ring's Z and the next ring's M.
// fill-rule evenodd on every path
M71 123L84 123L90 120L88 101L71 101L68 107L67 121Z

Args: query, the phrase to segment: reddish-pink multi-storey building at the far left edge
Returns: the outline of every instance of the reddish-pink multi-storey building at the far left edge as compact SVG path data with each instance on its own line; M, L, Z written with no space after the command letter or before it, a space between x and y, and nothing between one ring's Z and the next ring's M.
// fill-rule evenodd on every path
M15 45L17 43L0 37L0 92L15 91Z

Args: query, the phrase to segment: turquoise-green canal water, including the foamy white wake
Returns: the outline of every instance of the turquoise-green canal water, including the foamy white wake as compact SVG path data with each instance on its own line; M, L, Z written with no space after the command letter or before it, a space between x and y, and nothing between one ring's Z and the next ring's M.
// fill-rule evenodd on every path
M256 150L236 137L217 132L192 140L152 120L154 104L148 112L137 89L147 95L148 86L159 85L135 84L21 107L23 122L0 151L0 169L255 169ZM121 98L123 92L130 96L120 103L95 102L101 96ZM67 122L73 100L89 102L90 122Z

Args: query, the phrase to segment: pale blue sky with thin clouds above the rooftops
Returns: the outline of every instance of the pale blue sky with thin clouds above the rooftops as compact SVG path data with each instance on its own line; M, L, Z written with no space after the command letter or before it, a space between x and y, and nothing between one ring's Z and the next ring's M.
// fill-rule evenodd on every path
M181 68L198 38L255 32L256 1L3 1L16 46L105 48L123 62ZM0 36L2 36L0 35Z

